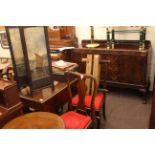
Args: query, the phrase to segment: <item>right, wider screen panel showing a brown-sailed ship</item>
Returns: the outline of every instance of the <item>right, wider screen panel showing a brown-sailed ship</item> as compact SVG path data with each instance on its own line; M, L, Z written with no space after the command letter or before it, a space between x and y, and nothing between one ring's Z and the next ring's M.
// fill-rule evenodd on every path
M54 88L47 27L22 26L20 32L31 90Z

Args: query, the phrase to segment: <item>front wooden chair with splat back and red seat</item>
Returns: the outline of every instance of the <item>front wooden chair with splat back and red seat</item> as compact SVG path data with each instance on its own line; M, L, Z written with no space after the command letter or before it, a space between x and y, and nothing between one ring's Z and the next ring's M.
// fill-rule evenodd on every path
M85 95L86 95L86 89L85 89L85 79L89 76L83 75L81 76L80 73L75 72L67 72L67 84L68 84L68 91L69 91L69 111L65 112L61 115L61 118L63 119L65 123L66 129L86 129L86 128L92 128L94 126L95 122L95 111L94 111L94 99L95 99L95 92L92 94L92 99L90 102L90 115L87 113L87 109L85 108ZM79 102L76 108L72 108L72 91L70 87L69 82L69 75L75 76L77 78L76 82L76 89L79 94ZM94 81L96 84L96 81Z

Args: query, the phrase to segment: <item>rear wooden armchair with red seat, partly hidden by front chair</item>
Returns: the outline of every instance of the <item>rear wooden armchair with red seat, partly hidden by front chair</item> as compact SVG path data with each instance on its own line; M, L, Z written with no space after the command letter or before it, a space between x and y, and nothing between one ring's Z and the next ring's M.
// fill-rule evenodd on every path
M90 79L90 80L96 81L95 78L93 76L91 76L91 75L87 76L87 78L85 78L84 80L86 80L86 79ZM86 81L84 81L84 82L86 82ZM94 90L91 90L91 91L94 91L96 93L94 101L93 101L94 102L93 104L94 104L95 116L96 116L96 119L98 120L98 128L99 128L100 127L100 123L101 123L101 112L103 112L104 120L106 119L106 116L105 116L105 97L106 97L107 90L103 89L102 92L97 92L97 84L96 83L95 83L95 86L92 87L92 89L94 89ZM92 101L91 91L88 91L90 93L86 94L85 95L85 99L84 99L85 108L88 111L91 108L91 101ZM72 98L72 101L71 101L71 105L74 108L76 108L78 104L79 104L79 94L75 95Z

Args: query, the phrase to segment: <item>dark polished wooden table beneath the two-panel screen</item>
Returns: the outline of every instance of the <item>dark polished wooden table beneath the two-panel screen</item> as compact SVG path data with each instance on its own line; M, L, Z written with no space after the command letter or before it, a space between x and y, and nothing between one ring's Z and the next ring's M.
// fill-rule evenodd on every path
M74 84L76 79L72 80ZM58 109L68 102L69 96L67 91L67 84L59 82L55 89L51 87L43 88L32 95L20 95L24 107L31 108L35 111L46 111L57 113Z

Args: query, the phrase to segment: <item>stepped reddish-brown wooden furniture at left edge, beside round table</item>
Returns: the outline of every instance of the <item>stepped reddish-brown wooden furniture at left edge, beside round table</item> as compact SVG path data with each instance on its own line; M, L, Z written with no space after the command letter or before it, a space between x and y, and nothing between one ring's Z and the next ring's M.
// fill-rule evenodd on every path
M22 108L16 83L0 79L0 128L21 115Z

